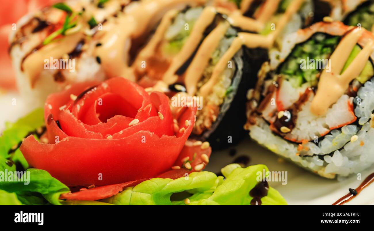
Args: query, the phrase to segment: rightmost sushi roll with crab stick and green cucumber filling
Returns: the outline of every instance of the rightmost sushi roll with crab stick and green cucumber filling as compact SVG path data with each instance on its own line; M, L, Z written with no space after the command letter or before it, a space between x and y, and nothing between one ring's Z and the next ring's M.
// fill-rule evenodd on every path
M323 177L374 163L374 37L318 22L289 34L248 91L252 139Z

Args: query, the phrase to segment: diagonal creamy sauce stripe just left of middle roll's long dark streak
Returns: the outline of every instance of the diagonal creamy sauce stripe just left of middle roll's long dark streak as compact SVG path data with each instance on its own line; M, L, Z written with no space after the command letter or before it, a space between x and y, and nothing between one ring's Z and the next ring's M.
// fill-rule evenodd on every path
M172 84L177 81L178 76L175 72L180 68L184 62L193 54L196 47L199 45L205 29L211 24L216 15L216 10L214 7L205 7L200 17L195 22L193 31L191 31L190 36L186 43L184 44L181 51L173 58L169 69L163 76L163 81Z

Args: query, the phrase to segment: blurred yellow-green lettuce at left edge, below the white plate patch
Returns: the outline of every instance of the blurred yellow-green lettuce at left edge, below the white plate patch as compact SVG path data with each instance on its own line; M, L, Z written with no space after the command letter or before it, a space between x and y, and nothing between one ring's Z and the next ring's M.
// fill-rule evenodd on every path
M0 157L8 158L9 150L18 145L28 133L44 125L43 109L36 109L15 123L7 122L0 137Z

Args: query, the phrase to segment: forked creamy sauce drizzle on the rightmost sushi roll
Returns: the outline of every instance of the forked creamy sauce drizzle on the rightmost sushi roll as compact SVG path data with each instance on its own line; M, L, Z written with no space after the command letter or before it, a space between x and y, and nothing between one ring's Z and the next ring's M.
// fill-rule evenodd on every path
M353 47L356 45L362 30L358 28L350 31L343 37L335 51L332 53L331 72L322 72L316 96L313 98L310 111L318 116L326 114L327 109L334 104L347 90L349 83L364 69L365 64L374 51L374 42L370 40L352 61L349 67L340 75Z

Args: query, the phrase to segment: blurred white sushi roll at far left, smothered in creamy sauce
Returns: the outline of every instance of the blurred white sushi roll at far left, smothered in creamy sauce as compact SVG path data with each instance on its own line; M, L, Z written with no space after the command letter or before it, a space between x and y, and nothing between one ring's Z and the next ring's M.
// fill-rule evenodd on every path
M71 83L122 76L135 80L135 49L169 9L205 0L67 0L26 15L14 25L9 53L26 104Z

